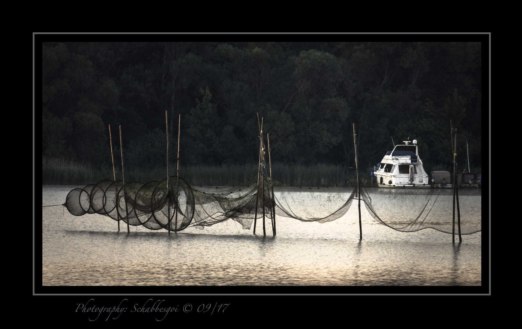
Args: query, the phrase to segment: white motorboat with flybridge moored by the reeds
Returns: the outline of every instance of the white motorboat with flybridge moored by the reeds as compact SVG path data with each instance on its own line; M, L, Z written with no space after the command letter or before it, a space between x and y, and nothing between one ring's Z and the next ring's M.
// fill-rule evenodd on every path
M388 151L373 175L379 187L431 187L422 167L417 140L404 141ZM411 144L410 144L411 143Z

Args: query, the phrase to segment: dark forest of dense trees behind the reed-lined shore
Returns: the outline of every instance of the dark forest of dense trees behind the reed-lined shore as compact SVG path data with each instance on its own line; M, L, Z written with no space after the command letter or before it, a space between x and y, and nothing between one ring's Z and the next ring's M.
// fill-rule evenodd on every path
M354 124L360 167L409 138L449 168L453 120L481 166L481 42L43 42L37 67L40 46L46 158L111 164L121 125L126 167L164 166L167 111L173 163L181 115L186 165L256 164L258 114L279 163L355 167Z

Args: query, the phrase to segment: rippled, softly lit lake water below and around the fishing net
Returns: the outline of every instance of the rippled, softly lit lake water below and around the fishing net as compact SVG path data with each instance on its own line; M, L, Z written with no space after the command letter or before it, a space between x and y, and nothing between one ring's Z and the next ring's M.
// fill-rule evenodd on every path
M64 203L67 193L77 187L83 186L43 186L42 205ZM480 190L465 199L460 211L472 210L480 216ZM125 223L118 231L117 222L103 215L73 216L62 206L43 207L42 284L482 285L481 232L464 235L462 243L453 244L450 234L431 228L402 233L375 222L364 206L361 212L362 241L356 200L345 215L329 223L277 216L276 237L271 236L268 222L263 237L259 220L257 235L231 220L170 235L166 230L131 226L127 234Z

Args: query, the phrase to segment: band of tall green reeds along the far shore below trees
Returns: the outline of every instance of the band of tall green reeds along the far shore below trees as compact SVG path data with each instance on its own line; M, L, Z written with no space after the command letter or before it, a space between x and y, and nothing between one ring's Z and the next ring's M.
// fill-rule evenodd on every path
M453 173L453 168L434 165L432 170L447 170ZM268 175L270 175L267 168ZM361 168L359 176L363 185L371 186L370 172L373 167ZM474 171L473 171L474 170ZM471 172L480 173L481 168L471 168ZM171 176L176 175L176 165L169 168ZM284 184L294 186L331 186L357 176L354 168L332 164L296 165L272 164L272 178ZM125 168L125 181L140 181L146 183L167 177L166 168ZM199 186L232 186L257 177L256 164L223 164L223 165L180 165L180 177L191 185ZM42 185L88 185L96 184L103 179L113 180L112 165L96 167L90 163L81 163L66 159L42 159ZM116 169L116 180L121 180L121 169Z

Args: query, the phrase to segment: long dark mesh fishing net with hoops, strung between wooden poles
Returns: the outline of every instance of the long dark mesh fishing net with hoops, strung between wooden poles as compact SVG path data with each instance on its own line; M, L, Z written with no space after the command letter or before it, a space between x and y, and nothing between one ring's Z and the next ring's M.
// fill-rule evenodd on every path
M263 175L228 187L191 186L177 176L146 184L102 180L73 189L64 205L75 216L98 213L152 230L204 229L233 220L244 229L263 221L275 234L276 215L326 223L344 216L353 200L360 198L374 220L389 228L403 232L433 228L453 233L453 189L366 189L362 185L359 197L357 179L328 187L286 185ZM473 195L461 195L459 201L461 234L480 231L480 198L477 201Z

